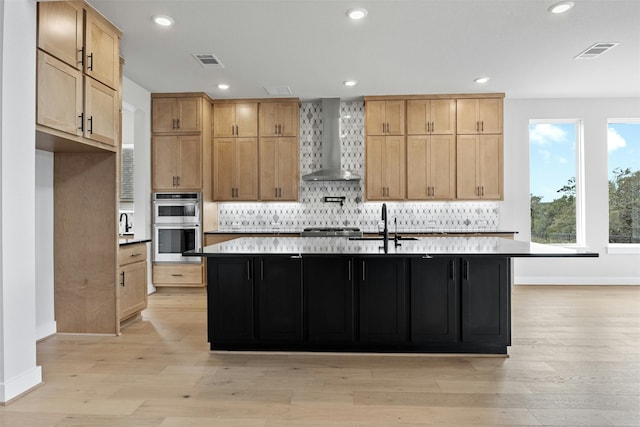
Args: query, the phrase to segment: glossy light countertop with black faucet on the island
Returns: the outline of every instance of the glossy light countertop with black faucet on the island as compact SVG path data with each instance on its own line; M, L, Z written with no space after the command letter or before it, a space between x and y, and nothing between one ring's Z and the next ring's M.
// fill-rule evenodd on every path
M382 240L350 240L346 237L241 237L205 246L185 255L220 257L238 255L353 255L353 256L506 256L597 257L581 248L543 245L500 237L418 237L403 239L400 246L390 237L385 252Z

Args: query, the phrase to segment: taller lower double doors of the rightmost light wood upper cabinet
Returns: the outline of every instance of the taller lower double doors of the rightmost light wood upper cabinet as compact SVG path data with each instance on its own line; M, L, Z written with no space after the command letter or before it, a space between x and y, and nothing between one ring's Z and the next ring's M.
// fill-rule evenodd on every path
M502 135L458 135L458 199L503 199Z

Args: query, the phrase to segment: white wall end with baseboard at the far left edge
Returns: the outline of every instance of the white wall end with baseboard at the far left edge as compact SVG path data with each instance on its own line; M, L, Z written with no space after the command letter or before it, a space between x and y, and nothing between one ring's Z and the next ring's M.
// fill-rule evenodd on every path
M36 366L36 3L0 0L0 402L42 381ZM25 31L25 28L32 29Z

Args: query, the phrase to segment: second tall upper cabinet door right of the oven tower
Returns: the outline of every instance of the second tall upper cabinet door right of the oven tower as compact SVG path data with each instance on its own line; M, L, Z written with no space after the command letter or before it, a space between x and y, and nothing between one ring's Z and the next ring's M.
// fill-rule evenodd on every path
M234 200L258 200L258 139L236 138Z

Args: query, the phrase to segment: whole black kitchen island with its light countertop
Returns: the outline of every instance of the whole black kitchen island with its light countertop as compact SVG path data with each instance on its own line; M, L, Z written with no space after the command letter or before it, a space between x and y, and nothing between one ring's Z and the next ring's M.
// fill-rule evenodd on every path
M212 350L506 354L511 259L595 257L498 237L248 237L207 257Z

